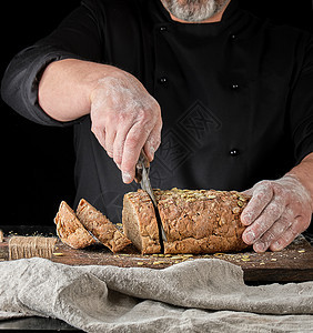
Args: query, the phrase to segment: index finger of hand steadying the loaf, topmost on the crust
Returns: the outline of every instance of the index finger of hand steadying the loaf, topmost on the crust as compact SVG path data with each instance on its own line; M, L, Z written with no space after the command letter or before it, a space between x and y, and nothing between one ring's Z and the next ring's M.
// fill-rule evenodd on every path
M251 200L241 214L241 222L244 225L252 224L271 202L273 194L271 182L263 181L256 184Z

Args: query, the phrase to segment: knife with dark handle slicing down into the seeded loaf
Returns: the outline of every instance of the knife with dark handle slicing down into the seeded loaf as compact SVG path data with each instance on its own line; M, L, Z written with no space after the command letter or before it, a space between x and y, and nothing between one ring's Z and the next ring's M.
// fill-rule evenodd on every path
M160 239L162 239L163 242L168 242L166 234L165 234L164 228L162 225L160 213L158 210L158 203L156 203L156 200L155 200L155 196L154 196L151 183L150 183L149 171L150 171L150 162L149 162L144 151L141 150L139 160L135 165L134 180L135 180L135 182L140 183L141 189L149 194L149 196L153 203L153 206L154 206L156 222L158 222L158 226L159 226L159 233L161 234Z

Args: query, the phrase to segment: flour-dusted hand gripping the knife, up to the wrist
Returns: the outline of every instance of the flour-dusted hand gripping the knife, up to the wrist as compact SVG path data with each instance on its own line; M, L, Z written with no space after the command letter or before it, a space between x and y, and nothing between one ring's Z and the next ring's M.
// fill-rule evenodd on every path
M142 148L150 161L161 142L161 109L130 73L114 69L100 79L91 94L92 132L132 182Z

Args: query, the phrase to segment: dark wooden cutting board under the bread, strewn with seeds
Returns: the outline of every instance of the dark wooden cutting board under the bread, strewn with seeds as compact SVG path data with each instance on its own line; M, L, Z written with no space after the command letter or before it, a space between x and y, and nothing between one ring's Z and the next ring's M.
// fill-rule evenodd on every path
M0 243L0 261L7 261L8 238ZM121 268L164 269L183 261L195 259L221 259L240 265L245 282L304 282L313 281L313 246L303 238L296 239L281 252L262 254L245 251L241 253L215 253L206 255L141 255L133 246L123 253L111 253L97 244L84 250L73 250L58 241L52 261L69 265L115 265ZM222 276L221 276L222 278Z

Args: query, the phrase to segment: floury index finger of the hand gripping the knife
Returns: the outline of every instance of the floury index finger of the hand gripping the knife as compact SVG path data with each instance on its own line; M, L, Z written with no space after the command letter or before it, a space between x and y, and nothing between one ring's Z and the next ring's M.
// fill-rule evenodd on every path
M140 123L133 125L128 132L121 163L123 182L127 184L131 183L134 179L135 164L149 134L150 131L142 128Z

